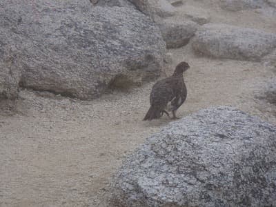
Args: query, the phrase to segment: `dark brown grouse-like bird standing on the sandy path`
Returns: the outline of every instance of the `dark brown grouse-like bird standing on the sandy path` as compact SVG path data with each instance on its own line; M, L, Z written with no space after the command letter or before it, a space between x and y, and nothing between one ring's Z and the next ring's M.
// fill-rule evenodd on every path
M161 116L172 112L172 119L177 109L184 103L187 97L187 88L184 83L183 72L190 68L186 61L182 61L175 67L172 76L157 81L150 92L150 108L144 117L144 121L159 119Z

